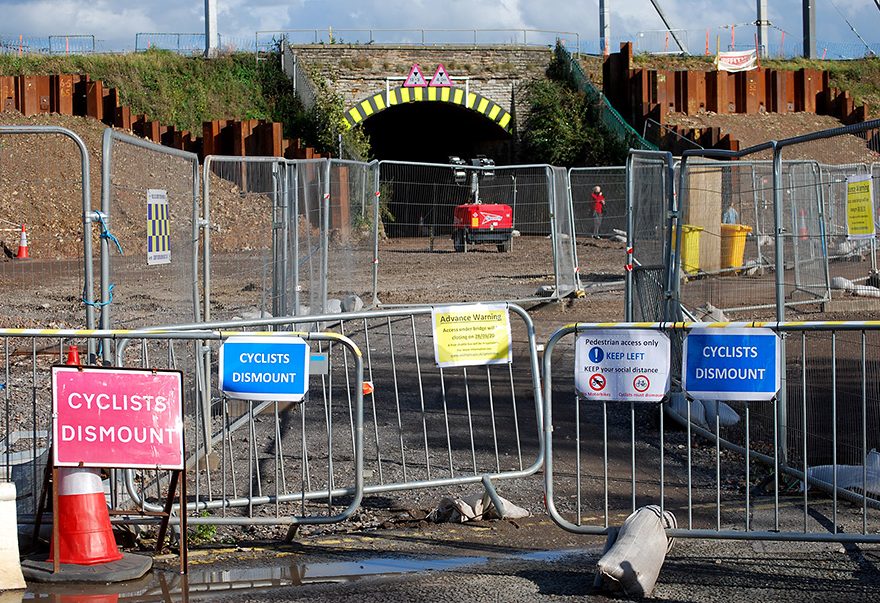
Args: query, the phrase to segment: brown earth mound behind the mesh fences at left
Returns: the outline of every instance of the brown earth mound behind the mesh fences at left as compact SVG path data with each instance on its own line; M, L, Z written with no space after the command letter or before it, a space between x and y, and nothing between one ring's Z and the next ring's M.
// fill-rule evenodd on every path
M100 209L104 124L88 117L24 117L17 112L3 112L0 125L58 126L78 134L89 152L91 208ZM126 254L141 253L146 246L146 216L126 211L140 207L141 196L146 206L146 187L137 183L158 182L156 188L164 187L163 178L171 179L167 163L167 158L150 152L119 152L114 156L114 195L126 193L135 200L134 206L123 207L120 203L111 208L111 232L128 242ZM179 169L174 172L178 182L168 182L168 188L191 188L189 180L181 181L179 174ZM191 178L191 170L185 178ZM271 229L259 225L271 219L266 209L268 199L255 199L253 195L245 199L235 184L213 176L211 186L212 228L222 233L212 241L213 249L237 251L265 246ZM116 197L112 202L116 203ZM17 250L21 224L27 225L31 257L82 257L82 209L81 160L73 141L62 135L0 135L0 248L6 248L0 253L0 261L8 260L9 252ZM187 213L191 215L191 209ZM94 236L97 249L97 229Z

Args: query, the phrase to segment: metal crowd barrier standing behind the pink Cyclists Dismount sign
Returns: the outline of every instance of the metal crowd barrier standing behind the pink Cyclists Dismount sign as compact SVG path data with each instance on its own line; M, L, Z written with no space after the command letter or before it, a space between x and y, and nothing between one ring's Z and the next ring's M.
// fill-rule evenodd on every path
M351 516L363 496L364 363L360 349L336 333L249 332L247 335L267 342L279 335L303 338L313 350L321 349L324 364L336 369L330 374L337 380L328 383L328 377L316 368L310 380L314 391L301 403L226 399L215 384L211 395L216 404L206 415L199 399L204 388L195 358L210 356L209 342L221 343L237 334L206 329L0 329L6 434L0 440L0 466L4 477L19 485L19 516L27 521L37 512L39 485L51 445L50 367L56 364L51 358L63 358L71 342L90 339L116 343L117 366L182 370L184 453L187 479L195 486L189 488L195 500L187 505L194 515L188 523L326 524ZM343 414L346 421L334 426L333 419ZM211 452L206 445L203 424L216 426L213 443L219 450ZM247 468L246 475L240 475L241 466ZM154 518L139 517L138 511L162 510L167 477L167 472L154 470L114 471L112 506L131 512L121 521L153 522ZM222 485L224 498L212 493L212 479ZM314 500L326 501L326 508L311 505ZM209 511L218 515L209 516Z

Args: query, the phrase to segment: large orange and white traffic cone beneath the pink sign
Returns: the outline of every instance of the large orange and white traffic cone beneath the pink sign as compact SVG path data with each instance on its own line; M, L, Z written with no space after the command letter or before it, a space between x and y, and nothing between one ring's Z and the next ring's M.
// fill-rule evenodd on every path
M95 565L122 559L110 527L110 513L98 469L58 469L58 558L61 563ZM49 550L49 560L54 548Z

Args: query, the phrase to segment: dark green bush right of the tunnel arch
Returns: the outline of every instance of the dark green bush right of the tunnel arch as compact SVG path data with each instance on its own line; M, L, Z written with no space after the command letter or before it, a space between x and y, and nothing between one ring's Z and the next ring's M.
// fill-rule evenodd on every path
M623 164L626 145L605 129L600 108L574 89L556 57L547 76L528 87L530 110L521 135L526 160L566 167Z

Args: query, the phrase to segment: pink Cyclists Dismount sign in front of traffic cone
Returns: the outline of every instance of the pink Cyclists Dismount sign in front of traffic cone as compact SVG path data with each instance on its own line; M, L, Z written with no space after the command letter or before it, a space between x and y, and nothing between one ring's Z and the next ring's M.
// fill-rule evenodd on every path
M183 469L180 371L52 367L56 467Z

